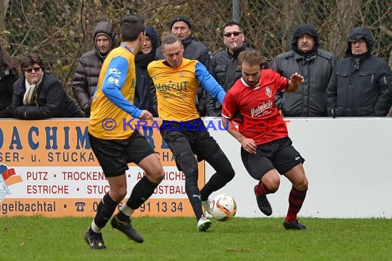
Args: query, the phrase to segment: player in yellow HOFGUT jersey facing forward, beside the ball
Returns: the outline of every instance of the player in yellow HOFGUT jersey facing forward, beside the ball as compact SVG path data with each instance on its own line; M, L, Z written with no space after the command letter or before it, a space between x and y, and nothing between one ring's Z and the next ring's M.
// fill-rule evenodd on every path
M160 133L173 152L177 168L185 174L185 190L195 212L197 229L206 231L211 221L204 216L202 204L209 212L208 196L223 188L235 172L197 113L197 86L202 84L221 103L226 93L202 63L183 58L184 47L177 36L162 37L162 54L166 60L153 61L147 67L156 89L157 111L163 120ZM202 190L197 186L197 160L206 160L216 171Z

